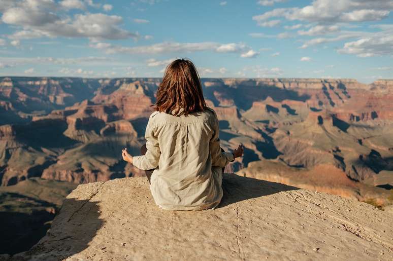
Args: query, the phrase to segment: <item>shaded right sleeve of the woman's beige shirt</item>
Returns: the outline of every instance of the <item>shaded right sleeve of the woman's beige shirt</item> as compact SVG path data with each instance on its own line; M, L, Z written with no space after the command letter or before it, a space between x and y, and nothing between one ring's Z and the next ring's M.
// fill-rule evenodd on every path
M225 167L228 162L233 162L234 155L231 152L221 152L219 125L217 115L214 113L213 136L210 139L209 148L212 156L212 166Z

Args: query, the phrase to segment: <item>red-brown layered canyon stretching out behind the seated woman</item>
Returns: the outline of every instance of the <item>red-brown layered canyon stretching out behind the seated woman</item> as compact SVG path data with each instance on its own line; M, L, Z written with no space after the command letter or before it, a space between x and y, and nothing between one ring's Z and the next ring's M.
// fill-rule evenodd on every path
M30 179L74 188L143 176L121 149L139 155L160 81L0 78L0 195ZM225 172L393 203L393 80L201 81L221 146L245 147Z

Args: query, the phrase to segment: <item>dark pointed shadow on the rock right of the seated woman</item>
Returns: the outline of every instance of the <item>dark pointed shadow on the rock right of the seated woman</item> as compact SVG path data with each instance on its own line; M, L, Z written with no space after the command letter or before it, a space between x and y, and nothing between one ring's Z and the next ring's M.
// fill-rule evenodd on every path
M243 200L268 196L281 191L300 190L300 188L266 180L224 173L222 179L224 196L217 208Z

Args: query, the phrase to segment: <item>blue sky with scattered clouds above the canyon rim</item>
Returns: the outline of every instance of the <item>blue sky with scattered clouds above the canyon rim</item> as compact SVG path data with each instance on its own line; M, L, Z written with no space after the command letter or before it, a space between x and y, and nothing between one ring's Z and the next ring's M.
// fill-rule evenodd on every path
M393 0L0 0L0 76L393 78Z

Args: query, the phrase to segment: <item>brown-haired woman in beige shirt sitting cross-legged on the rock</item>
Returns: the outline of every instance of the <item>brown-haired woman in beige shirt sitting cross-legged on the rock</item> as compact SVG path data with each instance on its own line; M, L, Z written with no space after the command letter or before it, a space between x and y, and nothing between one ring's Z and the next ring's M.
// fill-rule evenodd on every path
M166 68L154 112L146 127L141 156L123 159L146 170L155 203L166 210L215 208L222 198L222 174L243 146L224 152L215 111L207 107L198 72L189 60Z

